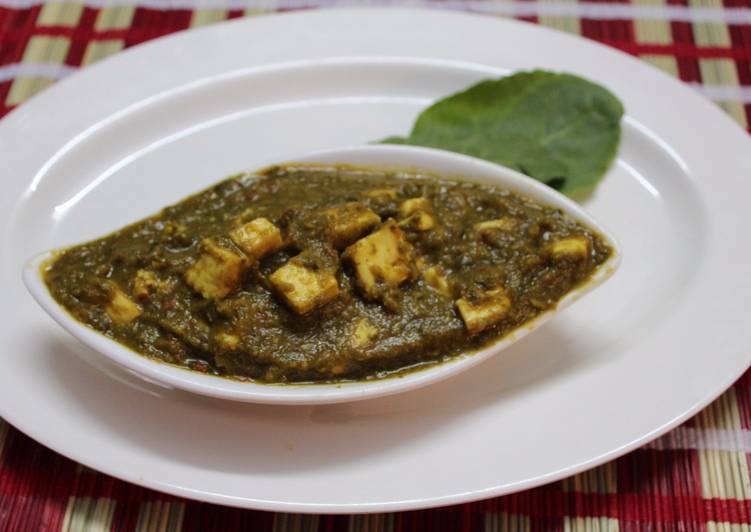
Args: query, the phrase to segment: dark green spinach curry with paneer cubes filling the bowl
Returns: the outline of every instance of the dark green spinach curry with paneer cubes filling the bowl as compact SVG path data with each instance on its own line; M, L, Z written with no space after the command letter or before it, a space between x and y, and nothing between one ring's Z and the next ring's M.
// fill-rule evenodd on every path
M495 187L284 165L61 251L44 276L77 320L147 357L331 382L487 346L611 253L560 210Z

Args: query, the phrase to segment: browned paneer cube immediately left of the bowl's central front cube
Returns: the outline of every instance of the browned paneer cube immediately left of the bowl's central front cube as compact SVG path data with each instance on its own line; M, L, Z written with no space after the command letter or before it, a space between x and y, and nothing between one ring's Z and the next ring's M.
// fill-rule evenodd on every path
M247 260L214 239L207 238L202 245L203 253L185 272L185 282L206 299L222 299L240 286Z

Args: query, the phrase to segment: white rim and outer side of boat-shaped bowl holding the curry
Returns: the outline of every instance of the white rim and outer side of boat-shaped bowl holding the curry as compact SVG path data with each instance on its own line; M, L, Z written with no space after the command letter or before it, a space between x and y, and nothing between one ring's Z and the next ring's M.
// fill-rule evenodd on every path
M369 145L314 152L290 158L289 161L285 162L352 164L379 169L423 171L441 177L496 185L527 196L544 205L561 209L576 221L602 235L614 252L586 283L567 294L554 310L541 314L490 347L403 375L336 384L274 385L240 382L213 375L204 375L139 355L124 345L76 321L52 298L41 275L42 265L52 256L52 251L37 255L26 263L23 271L26 287L39 305L70 334L115 363L146 379L221 399L300 405L337 403L380 397L413 390L461 373L500 353L541 327L579 297L602 284L620 264L621 249L615 238L577 203L519 172L480 159L429 148ZM217 179L220 177L218 176Z

